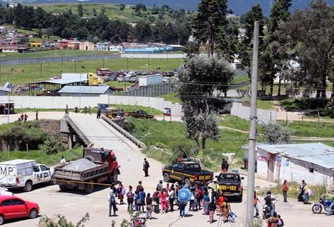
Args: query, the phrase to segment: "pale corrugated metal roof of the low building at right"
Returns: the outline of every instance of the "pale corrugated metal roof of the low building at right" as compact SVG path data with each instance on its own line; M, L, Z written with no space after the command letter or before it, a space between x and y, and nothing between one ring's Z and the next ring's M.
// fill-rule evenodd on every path
M334 168L334 147L318 143L304 143L291 145L258 145L259 149L272 154L307 161L325 168Z

